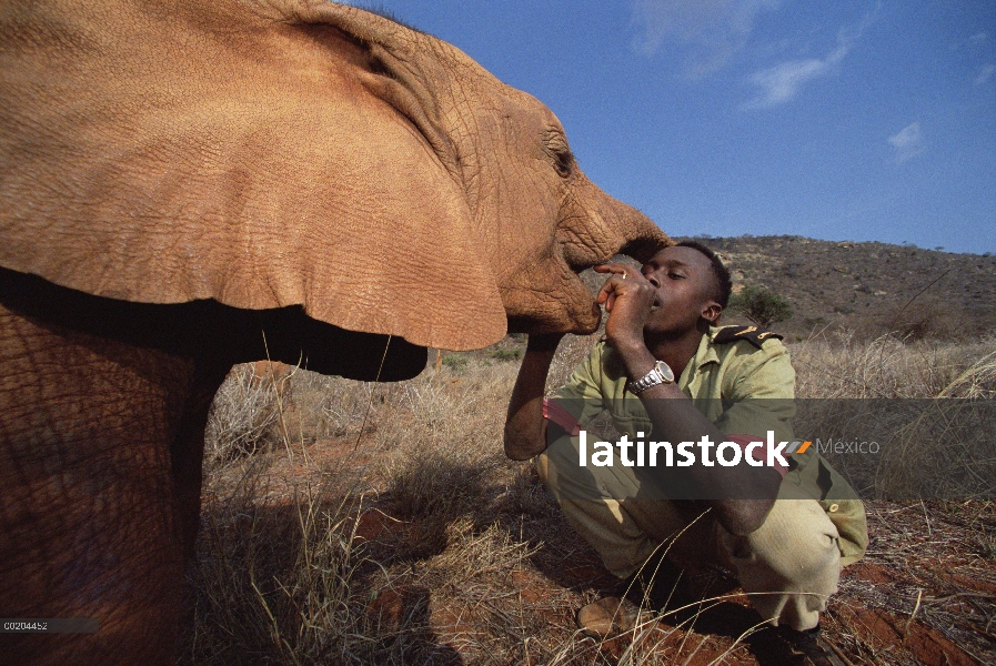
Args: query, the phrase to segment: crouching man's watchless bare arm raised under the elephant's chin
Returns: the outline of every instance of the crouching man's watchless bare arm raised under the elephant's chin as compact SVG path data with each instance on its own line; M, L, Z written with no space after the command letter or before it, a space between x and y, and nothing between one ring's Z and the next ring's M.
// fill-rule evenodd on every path
M505 455L527 461L546 448L543 391L561 334L530 335L505 420Z

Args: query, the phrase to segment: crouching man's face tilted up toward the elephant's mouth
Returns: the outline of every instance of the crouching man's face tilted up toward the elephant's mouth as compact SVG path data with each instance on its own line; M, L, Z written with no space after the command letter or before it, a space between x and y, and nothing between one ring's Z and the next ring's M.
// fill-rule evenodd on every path
M641 272L657 290L655 309L643 329L646 333L682 333L696 327L700 317L714 321L718 316L712 262L698 250L661 250Z

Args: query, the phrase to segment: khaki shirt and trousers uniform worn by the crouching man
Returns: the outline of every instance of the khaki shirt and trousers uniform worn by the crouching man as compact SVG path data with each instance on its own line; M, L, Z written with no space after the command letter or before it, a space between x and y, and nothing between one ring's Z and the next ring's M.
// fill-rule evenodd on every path
M552 400L582 427L607 410L631 440L650 436L653 425L626 382L621 359L601 342ZM710 329L677 385L724 434L764 438L771 430L776 441L793 441L795 372L785 346L766 332ZM806 629L836 592L841 567L864 555L867 525L854 491L813 447L786 458L789 468L772 512L743 537L707 514L691 515L683 503L637 498L654 483L653 472L625 466L617 454L612 466L580 467L577 437L551 444L537 468L613 574L624 578L658 547L667 548L680 564L735 569L765 619Z

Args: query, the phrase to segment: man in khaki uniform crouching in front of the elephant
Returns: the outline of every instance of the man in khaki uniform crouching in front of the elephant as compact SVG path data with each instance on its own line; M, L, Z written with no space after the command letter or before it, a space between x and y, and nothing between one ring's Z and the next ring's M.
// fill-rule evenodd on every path
M544 404L543 377L560 337L530 337L506 453L525 460L542 452L541 478L620 578L632 579L662 553L678 565L734 571L762 619L809 655L801 663L834 663L817 640L819 612L842 566L864 554L867 527L854 492L815 451L783 455L787 465L776 455L765 461L761 444L793 442L787 351L769 332L717 327L730 274L698 243L662 250L641 271L595 270L610 275L597 296L608 312L605 340ZM628 441L614 460L587 462L583 428L604 408ZM637 465L637 440L641 450L644 441L692 443L701 455L690 466ZM727 444L726 458L740 464L708 461L720 452L700 442L733 442L742 455L731 456Z

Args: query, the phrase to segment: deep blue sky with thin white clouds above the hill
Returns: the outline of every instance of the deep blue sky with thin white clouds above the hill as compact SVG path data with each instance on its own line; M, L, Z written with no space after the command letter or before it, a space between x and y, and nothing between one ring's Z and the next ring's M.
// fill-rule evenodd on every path
M365 4L543 101L671 235L996 253L993 0Z

